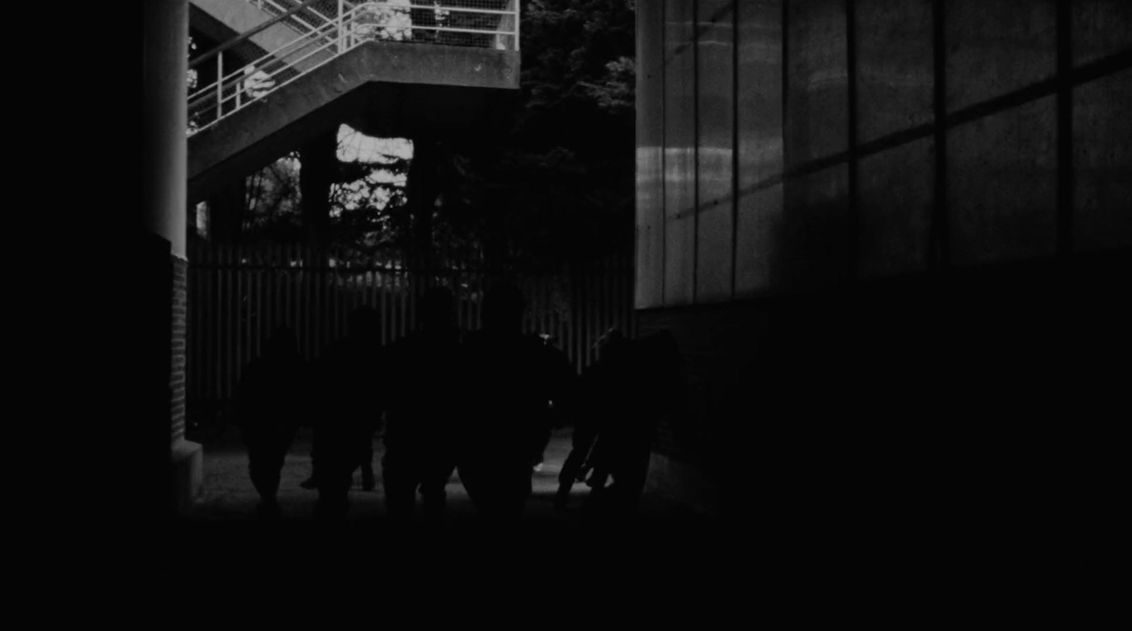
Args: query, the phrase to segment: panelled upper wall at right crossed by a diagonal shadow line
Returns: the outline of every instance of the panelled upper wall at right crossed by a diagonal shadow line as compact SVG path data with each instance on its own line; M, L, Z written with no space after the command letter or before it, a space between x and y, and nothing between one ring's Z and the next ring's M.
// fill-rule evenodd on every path
M1057 12L640 7L637 306L1132 247L1132 8Z

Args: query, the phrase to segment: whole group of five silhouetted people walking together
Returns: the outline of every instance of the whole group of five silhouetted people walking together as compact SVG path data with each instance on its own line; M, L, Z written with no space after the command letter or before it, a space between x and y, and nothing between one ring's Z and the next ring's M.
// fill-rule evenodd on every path
M384 346L377 312L359 309L346 337L310 366L293 332L272 335L237 396L263 516L278 516L284 458L298 429L310 426L314 473L303 486L318 491L316 517L343 518L354 472L361 469L363 489L375 486L372 441L383 417L381 479L394 520L413 517L418 493L427 516L443 515L457 470L480 515L517 519L555 414L575 426L556 505L565 508L572 486L585 481L589 508L607 515L636 508L654 427L667 412L660 395L677 391L671 337L633 340L610 331L580 379L564 353L523 334L524 299L513 285L488 293L478 331L461 335L454 306L448 289L428 289L417 329Z

